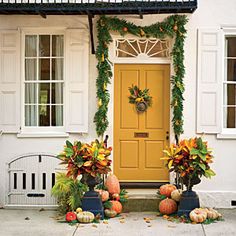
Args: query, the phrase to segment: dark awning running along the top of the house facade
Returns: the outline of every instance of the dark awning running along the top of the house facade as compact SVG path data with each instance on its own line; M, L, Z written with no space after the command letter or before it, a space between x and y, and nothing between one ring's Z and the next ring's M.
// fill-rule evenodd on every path
M0 14L128 15L193 13L197 0L0 0Z

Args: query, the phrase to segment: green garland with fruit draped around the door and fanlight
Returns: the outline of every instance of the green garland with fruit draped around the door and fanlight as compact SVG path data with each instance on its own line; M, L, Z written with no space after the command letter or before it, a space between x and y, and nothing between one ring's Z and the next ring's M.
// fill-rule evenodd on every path
M183 78L185 74L183 61L186 23L187 17L181 15L172 15L167 17L163 22L158 22L145 27L137 26L133 23L127 22L124 19L118 19L116 17L100 17L97 22L98 46L96 50L96 58L98 60L98 77L96 81L98 111L94 117L98 136L103 137L109 124L107 119L107 111L110 95L107 90L107 84L110 83L112 69L111 62L108 58L108 45L112 42L110 31L116 31L122 36L129 33L139 37L145 36L147 38L175 38L173 51L171 53L175 71L175 75L171 77L171 106L173 108L172 126L176 135L176 139L178 140L179 135L183 133Z

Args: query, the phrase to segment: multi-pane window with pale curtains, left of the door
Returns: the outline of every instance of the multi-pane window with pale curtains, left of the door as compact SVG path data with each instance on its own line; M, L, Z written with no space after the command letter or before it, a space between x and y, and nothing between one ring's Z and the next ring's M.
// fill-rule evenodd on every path
M64 36L25 35L24 125L63 126Z

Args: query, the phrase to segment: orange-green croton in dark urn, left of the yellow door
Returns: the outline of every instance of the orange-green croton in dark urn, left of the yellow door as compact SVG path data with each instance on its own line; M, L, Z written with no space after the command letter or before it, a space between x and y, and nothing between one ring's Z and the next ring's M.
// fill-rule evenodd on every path
M104 142L95 140L87 144L75 141L72 144L66 141L64 151L58 156L62 164L67 165L67 176L74 180L82 175L81 182L89 187L82 199L84 211L91 211L95 215L101 214L103 218L103 206L99 193L94 187L101 182L101 175L111 171L111 147L107 148Z

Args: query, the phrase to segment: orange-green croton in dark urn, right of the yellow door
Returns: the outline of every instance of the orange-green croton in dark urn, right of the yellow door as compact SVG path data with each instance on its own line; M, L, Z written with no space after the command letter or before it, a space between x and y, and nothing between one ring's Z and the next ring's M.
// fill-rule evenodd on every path
M178 145L171 144L163 151L169 171L178 174L180 182L186 186L180 199L178 214L188 215L194 208L199 208L199 198L192 187L201 182L201 177L211 178L215 172L210 168L213 162L212 151L201 137L184 139Z

